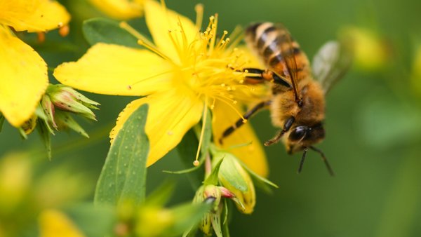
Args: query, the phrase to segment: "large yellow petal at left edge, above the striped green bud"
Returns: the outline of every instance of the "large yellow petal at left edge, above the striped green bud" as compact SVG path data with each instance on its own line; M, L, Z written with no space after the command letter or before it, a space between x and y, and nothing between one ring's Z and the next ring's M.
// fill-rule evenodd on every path
M48 86L46 62L0 25L0 111L13 126L31 118Z

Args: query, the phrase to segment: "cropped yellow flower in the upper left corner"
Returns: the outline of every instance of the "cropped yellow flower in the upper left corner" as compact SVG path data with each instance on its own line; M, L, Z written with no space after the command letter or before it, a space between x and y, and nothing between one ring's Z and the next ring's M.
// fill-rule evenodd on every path
M46 62L15 31L46 32L63 27L69 14L50 0L0 0L0 112L15 127L34 114L48 86Z

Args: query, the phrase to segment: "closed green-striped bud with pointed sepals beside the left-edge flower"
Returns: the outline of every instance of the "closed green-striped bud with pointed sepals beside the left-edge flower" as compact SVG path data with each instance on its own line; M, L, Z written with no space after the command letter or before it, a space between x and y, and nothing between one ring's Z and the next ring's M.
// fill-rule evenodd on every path
M95 105L99 104L89 100L76 90L61 84L49 85L46 94L50 96L51 102L57 109L81 114L81 116L96 121L95 114L91 109L98 109Z

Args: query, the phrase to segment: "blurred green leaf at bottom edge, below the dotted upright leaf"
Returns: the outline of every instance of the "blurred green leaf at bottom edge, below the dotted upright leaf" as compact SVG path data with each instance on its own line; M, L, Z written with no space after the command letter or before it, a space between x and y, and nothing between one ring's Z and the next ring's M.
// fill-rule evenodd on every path
M117 219L114 208L81 203L69 206L65 212L86 236L102 237L114 231Z

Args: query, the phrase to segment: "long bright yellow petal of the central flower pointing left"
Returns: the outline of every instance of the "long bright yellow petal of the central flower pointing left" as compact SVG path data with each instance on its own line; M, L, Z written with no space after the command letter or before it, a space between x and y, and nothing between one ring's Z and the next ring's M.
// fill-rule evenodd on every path
M170 87L171 67L149 50L98 43L54 70L61 83L107 95L149 95Z

